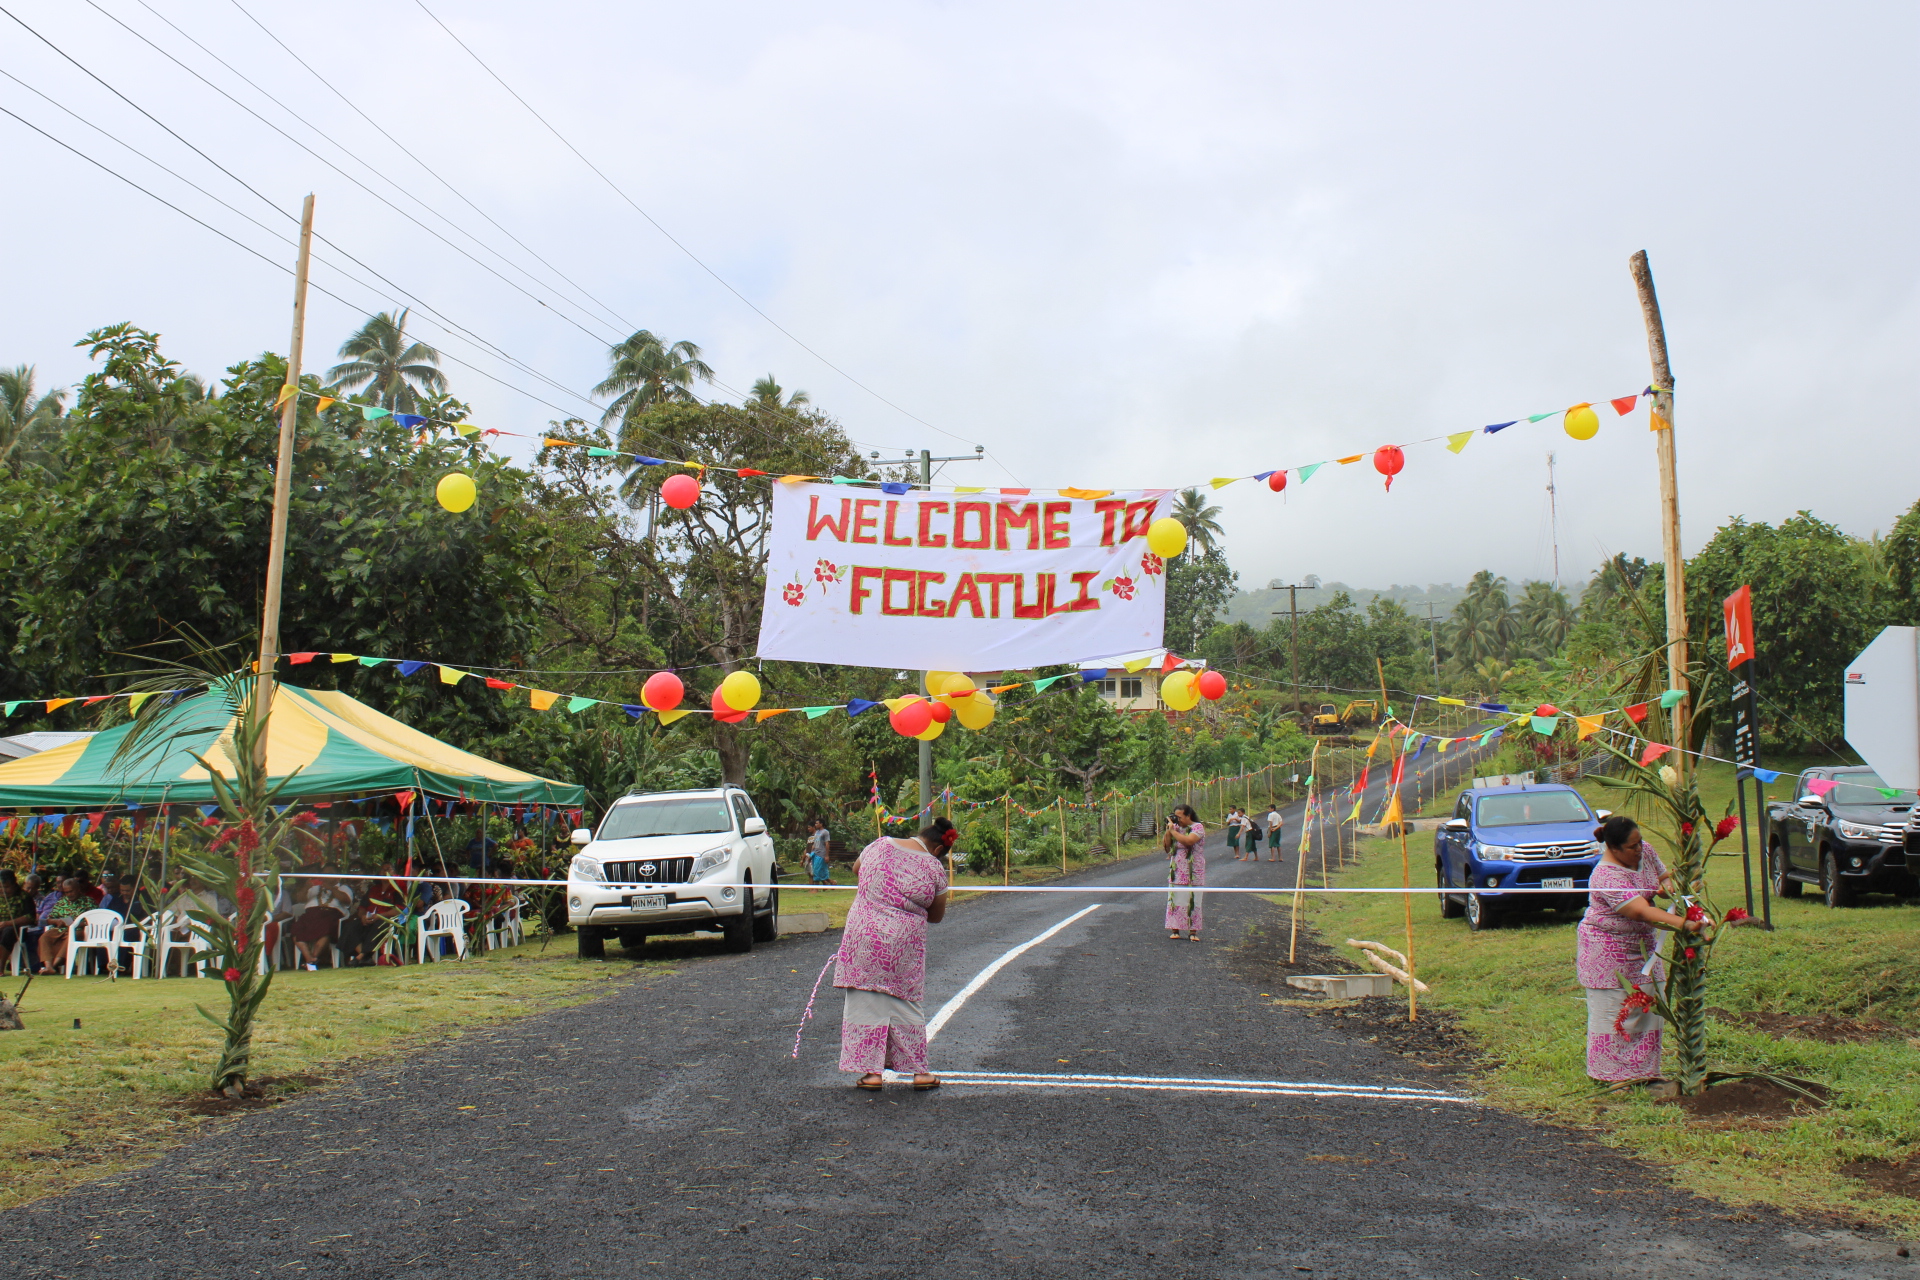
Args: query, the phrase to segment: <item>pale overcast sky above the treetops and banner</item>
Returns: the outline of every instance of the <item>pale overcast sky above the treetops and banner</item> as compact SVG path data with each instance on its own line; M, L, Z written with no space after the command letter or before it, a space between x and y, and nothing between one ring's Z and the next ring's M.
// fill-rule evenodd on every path
M804 388L866 447L985 445L991 462L947 470L956 484L1160 487L1636 391L1626 259L1647 249L1688 553L1736 514L1811 509L1864 535L1920 497L1914 4L428 0L818 357L415 0L242 4L8 0L273 207L4 17L0 69L273 234L19 83L0 79L0 106L275 263L315 192L321 234L397 290L317 269L353 305L315 296L309 368L367 313L419 301L584 393L607 344L645 326L701 344L737 391L766 372ZM286 347L280 267L10 117L0 130L0 363L73 384L88 365L71 344L115 320L207 376ZM591 413L415 315L518 388L449 363L476 420L538 432L559 416L541 401ZM1563 581L1615 551L1657 558L1645 415L1601 422L1584 443L1544 422L1459 457L1409 449L1392 493L1363 464L1284 497L1240 482L1217 495L1231 560L1244 585L1546 578L1548 451Z

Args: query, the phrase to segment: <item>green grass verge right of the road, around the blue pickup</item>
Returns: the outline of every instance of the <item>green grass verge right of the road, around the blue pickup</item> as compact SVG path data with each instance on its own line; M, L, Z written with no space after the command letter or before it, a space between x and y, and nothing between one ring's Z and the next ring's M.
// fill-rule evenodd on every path
M1582 791L1597 808L1622 808L1619 791L1588 783ZM1709 814L1718 814L1732 794L1732 771L1705 773L1701 791ZM1450 800L1440 796L1427 812L1450 810ZM1736 852L1738 839L1728 841ZM1407 850L1413 883L1432 885L1432 833L1423 827L1411 835ZM1755 858L1755 877L1759 865ZM1398 885L1400 842L1361 841L1359 860L1340 883ZM1740 858L1715 858L1707 885L1722 912L1743 904ZM1818 1044L1715 1023L1715 1067L1801 1077L1834 1090L1830 1107L1782 1121L1690 1121L1645 1100L1596 1102L1567 913L1509 917L1475 935L1461 919L1440 919L1432 898L1415 898L1413 954L1419 977L1432 984L1423 1004L1461 1017L1484 1054L1482 1084L1496 1105L1592 1126L1603 1142L1670 1167L1676 1184L1728 1203L1920 1228L1920 1201L1884 1196L1837 1173L1853 1159L1903 1159L1920 1150L1920 904L1876 894L1834 912L1805 896L1774 900L1772 917L1772 933L1741 929L1720 942L1709 1006L1880 1017L1908 1029L1905 1040ZM1311 919L1334 946L1350 936L1405 946L1398 898L1323 898Z

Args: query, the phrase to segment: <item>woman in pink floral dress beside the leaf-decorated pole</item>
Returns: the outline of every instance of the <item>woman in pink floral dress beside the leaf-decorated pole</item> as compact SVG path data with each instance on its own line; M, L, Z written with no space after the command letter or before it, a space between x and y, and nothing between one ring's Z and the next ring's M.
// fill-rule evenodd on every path
M1607 818L1594 839L1607 852L1588 879L1586 915L1574 931L1574 973L1586 988L1586 1075L1601 1084L1655 1080L1663 1023L1649 992L1667 975L1655 931L1697 933L1707 921L1653 906L1653 894L1672 894L1674 883L1632 818Z

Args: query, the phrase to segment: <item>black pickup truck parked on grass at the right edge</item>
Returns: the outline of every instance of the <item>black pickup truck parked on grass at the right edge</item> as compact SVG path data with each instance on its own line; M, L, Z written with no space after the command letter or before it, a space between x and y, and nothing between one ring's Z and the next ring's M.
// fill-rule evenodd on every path
M1809 787L1816 781L1834 787L1822 796ZM1797 800L1766 806L1774 894L1797 898L1801 885L1818 885L1828 906L1853 906L1862 892L1914 892L1907 869L1914 802L1912 791L1893 791L1864 766L1809 770Z

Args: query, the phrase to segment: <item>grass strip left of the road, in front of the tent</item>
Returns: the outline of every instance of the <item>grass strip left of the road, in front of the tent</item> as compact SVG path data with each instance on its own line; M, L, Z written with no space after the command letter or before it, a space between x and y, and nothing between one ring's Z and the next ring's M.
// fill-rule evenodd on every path
M578 963L572 938L467 961L278 973L253 1032L252 1077L328 1079L467 1027L589 1000L622 973ZM225 986L33 981L25 1031L0 1032L0 1209L144 1163L192 1136L204 1121L182 1103L205 1096L221 1042L196 1002L223 1013Z

